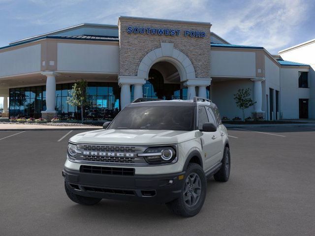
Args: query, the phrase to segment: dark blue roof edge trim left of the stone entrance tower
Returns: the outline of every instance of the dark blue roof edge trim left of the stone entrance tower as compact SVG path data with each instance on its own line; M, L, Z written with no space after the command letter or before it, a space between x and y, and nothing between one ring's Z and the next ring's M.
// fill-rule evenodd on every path
M21 43L16 43L16 44L4 46L4 47L1 47L0 50L1 49L5 49L5 48L15 47L15 46L26 44L26 43L39 41L39 40L45 39L45 38L119 42L119 39L117 37L99 37L99 36L86 36L86 35L79 35L79 36L43 36L43 37L39 37L39 38L28 40L28 41L24 41L24 42L21 42Z

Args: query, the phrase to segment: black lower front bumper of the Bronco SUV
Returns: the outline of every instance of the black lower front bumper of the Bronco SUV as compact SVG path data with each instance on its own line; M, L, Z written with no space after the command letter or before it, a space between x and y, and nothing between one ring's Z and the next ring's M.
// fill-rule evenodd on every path
M167 175L118 176L63 169L67 187L75 194L148 203L168 203L179 198L183 187L183 175L185 172Z

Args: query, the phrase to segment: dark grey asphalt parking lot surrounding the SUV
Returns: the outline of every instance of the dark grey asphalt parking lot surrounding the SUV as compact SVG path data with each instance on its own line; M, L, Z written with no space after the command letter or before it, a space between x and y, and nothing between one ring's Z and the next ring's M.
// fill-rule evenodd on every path
M71 202L61 171L68 138L83 131L68 132L0 131L1 236L315 234L314 127L230 129L230 180L208 180L193 218L163 205Z

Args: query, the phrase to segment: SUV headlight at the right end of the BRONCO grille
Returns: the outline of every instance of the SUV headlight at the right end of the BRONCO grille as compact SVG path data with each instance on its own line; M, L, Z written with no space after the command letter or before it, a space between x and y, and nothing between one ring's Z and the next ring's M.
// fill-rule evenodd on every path
M176 159L175 147L147 148L144 153L138 154L144 157L149 164L171 163Z

